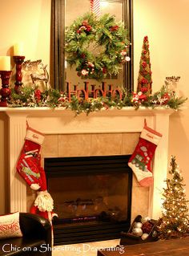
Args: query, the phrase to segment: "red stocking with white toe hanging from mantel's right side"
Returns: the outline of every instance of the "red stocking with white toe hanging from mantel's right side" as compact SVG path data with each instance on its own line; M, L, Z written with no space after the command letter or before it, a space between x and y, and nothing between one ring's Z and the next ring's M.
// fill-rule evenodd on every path
M143 131L141 132L139 143L133 152L128 165L135 173L139 184L148 187L153 183L151 173L151 160L155 154L155 148L159 144L162 134L147 127L144 121Z

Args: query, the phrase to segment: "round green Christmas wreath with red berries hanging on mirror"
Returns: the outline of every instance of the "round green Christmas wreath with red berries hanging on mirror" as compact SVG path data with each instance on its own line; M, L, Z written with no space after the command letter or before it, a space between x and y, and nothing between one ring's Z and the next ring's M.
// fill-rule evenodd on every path
M117 75L127 56L129 40L122 22L115 16L84 14L66 30L66 61L75 65L78 76L102 80ZM94 53L95 52L95 53Z

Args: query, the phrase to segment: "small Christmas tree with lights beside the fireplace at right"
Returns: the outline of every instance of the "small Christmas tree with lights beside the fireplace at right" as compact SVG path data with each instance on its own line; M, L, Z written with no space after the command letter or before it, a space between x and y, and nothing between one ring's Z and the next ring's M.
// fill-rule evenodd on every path
M171 156L171 179L166 180L167 189L163 189L163 217L159 225L159 238L180 238L189 232L189 216L183 177Z

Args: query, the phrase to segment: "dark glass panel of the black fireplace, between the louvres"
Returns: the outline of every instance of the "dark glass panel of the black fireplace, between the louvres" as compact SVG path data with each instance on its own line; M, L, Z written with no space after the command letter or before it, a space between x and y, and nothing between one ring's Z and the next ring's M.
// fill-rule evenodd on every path
M54 211L64 222L127 220L128 184L128 173L116 172L48 180Z

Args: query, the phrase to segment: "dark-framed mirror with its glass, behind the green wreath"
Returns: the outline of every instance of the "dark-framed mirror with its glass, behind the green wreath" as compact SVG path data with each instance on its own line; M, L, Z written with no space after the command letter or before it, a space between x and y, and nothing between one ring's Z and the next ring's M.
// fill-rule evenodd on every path
M84 81L99 85L94 79L78 77L74 67L66 63L65 30L78 17L90 11L90 0L51 0L51 42L50 42L50 83L59 91L66 91L66 82L81 85ZM118 75L109 75L103 79L113 87L124 87L133 90L133 49L132 49L132 0L100 0L100 13L115 15L116 21L124 22L131 42L128 55L131 61L120 67Z

